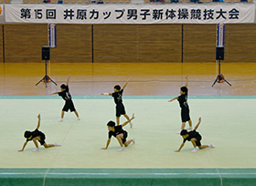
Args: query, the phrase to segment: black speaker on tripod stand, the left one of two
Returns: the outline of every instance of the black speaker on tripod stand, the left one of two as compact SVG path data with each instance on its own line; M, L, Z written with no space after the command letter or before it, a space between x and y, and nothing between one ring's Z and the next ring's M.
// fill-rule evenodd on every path
M45 60L46 75L44 76L44 78L37 82L36 86L40 82L44 82L46 84L46 88L48 87L49 82L53 82L57 86L57 83L55 83L54 80L48 77L48 60L50 60L50 47L42 47L42 60Z

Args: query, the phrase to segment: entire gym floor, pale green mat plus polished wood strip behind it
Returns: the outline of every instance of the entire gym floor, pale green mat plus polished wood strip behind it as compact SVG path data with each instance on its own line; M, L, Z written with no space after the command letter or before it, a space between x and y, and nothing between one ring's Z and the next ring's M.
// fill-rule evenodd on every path
M193 178L198 179L196 185L243 185L244 181L255 181L256 63L223 63L221 73L231 87L227 83L212 87L217 77L215 63L63 63L48 67L48 75L58 86L35 86L45 75L43 63L0 64L0 182L29 178L43 186L83 185L96 178L88 185L97 181L101 181L98 185L111 185L106 178L124 177L130 181L144 178L149 181L144 185L169 185L168 179L176 181L175 185L193 185L189 180ZM202 141L214 143L216 148L192 153L187 142L176 153L182 142L176 135L180 109L177 102L167 100L179 94L187 73L193 126L202 117ZM66 113L64 122L59 123L63 100L50 93L59 91L69 74L69 88L81 120ZM109 150L101 150L107 140L106 122L115 117L112 98L100 94L112 92L114 85L123 85L127 78L131 82L125 88L123 102L128 115L134 112L136 119L133 129L125 129L129 138L135 137L136 144L118 153L118 143L112 139ZM40 129L47 134L46 141L62 146L32 152L31 142L24 152L17 152L25 141L24 130L36 128L38 113L42 115ZM58 184L54 178L59 179ZM149 178L160 182L154 184ZM22 181L23 185L28 184Z

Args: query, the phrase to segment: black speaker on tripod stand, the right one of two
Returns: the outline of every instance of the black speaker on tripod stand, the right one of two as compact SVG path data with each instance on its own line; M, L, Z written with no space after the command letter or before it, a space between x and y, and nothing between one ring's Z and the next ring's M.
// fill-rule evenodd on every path
M218 82L218 83L226 82L229 84L229 86L231 86L229 81L227 81L224 78L223 74L220 74L220 65L221 65L220 61L224 60L224 47L216 47L216 60L219 60L219 75L217 76L217 78L215 79L215 81L213 82L211 87L213 87L216 82Z

